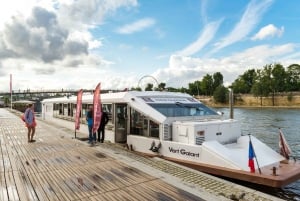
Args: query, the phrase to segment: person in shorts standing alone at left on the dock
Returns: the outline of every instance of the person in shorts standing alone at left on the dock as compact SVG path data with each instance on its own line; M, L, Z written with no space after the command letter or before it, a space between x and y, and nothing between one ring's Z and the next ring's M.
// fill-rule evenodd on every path
M28 130L28 142L35 142L33 136L35 134L36 121L34 116L34 105L32 103L28 104L24 113L24 119Z

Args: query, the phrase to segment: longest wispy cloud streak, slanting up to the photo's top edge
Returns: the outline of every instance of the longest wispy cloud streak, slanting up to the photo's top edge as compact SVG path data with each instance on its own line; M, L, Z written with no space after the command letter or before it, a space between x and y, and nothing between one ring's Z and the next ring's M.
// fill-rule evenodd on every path
M272 2L273 0L252 0L248 4L241 20L227 36L215 44L216 47L211 53L215 53L224 47L243 40L260 22L262 15L271 6Z

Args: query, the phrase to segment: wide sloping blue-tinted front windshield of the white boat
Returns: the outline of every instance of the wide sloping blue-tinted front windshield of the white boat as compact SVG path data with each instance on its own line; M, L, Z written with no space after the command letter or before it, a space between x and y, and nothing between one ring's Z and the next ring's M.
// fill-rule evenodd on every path
M166 117L218 115L202 103L148 103Z

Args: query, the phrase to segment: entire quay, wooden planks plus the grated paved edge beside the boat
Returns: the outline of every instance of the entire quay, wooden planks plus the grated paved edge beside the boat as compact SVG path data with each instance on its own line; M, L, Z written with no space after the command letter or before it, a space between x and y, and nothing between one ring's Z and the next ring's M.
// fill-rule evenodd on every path
M28 143L24 123L0 109L0 200L280 200L110 143L89 147L72 134L38 121Z

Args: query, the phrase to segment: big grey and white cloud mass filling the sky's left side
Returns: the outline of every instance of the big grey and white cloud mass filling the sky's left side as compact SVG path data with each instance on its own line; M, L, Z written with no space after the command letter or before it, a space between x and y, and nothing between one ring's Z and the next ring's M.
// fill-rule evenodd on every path
M4 16L2 7L0 13L5 17L4 21L0 20L5 22L0 27L0 76L12 73L14 89L40 89L41 83L44 88L93 88L104 77L115 80L116 86L129 82L128 76L122 80L108 71L113 62L90 51L103 46L103 37L94 38L91 30L103 24L105 17L114 15L117 9L128 11L137 6L136 0L43 1L43 5L35 4L39 5L35 7L32 5L36 0L30 2L29 6L26 1L26 9L19 7ZM104 85L116 87L109 81ZM0 82L2 90L6 90L6 81Z

